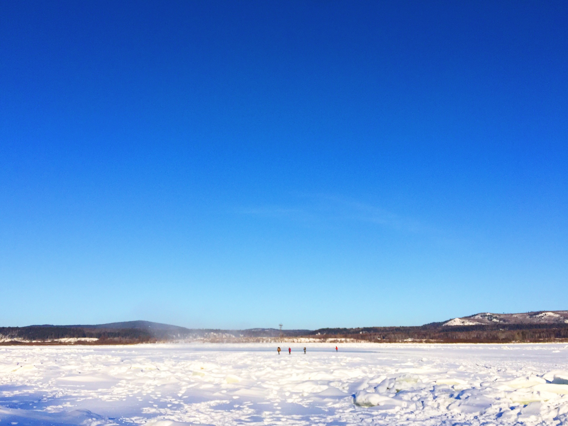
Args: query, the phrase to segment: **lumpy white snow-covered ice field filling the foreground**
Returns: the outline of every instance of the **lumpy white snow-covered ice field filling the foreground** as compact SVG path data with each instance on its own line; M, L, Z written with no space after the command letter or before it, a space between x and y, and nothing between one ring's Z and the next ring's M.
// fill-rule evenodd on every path
M0 346L0 424L568 424L565 344Z

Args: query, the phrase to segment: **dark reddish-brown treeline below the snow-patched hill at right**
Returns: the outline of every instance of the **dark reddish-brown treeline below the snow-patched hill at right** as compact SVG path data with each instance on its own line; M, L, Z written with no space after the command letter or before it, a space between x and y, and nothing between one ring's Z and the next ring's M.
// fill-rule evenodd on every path
M310 337L321 339L345 337L366 341L424 340L456 343L507 343L515 341L553 341L568 339L566 324L499 324L441 327L323 328Z

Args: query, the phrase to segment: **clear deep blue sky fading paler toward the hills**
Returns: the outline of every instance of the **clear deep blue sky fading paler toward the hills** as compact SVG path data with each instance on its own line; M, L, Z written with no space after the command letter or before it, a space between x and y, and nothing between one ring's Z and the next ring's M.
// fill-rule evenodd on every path
M568 309L566 2L0 19L0 325Z

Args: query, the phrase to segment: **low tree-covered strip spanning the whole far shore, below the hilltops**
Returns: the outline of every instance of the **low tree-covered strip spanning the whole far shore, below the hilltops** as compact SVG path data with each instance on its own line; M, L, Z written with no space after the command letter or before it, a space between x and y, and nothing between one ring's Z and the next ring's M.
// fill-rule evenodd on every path
M278 337L277 329L250 329L246 331L188 330L169 332L148 328L93 328L84 326L56 327L32 325L29 327L0 327L3 344L60 343L57 339L96 338L96 343L78 341L78 344L130 344L171 341L178 339L260 339ZM479 324L442 326L441 323L420 327L361 327L321 328L315 331L287 330L282 337L312 337L316 339L356 339L361 341L429 341L441 343L510 343L568 340L568 324Z

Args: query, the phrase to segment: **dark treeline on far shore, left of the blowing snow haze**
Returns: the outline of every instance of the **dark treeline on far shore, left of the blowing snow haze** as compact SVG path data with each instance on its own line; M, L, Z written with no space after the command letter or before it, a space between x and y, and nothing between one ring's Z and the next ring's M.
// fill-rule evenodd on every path
M86 329L66 327L0 327L4 340L49 341L65 338L94 337L101 343L141 343L152 341L149 332L136 329Z

